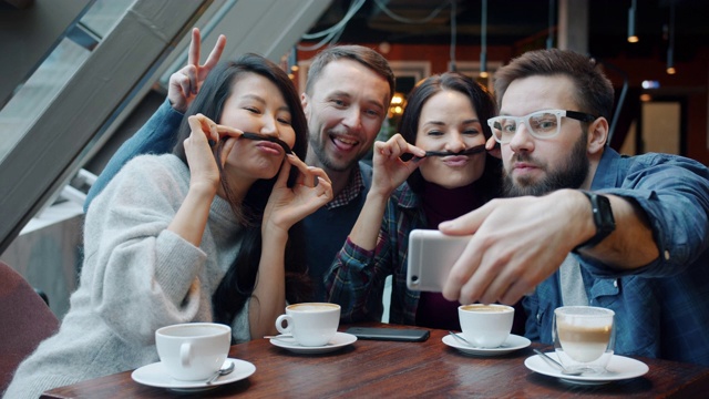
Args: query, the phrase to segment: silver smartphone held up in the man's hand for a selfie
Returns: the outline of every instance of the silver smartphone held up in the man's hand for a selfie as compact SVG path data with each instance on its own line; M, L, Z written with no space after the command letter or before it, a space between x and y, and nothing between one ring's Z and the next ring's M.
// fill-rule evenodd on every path
M453 264L472 235L450 236L433 229L414 229L409 235L407 286L411 290L440 293Z

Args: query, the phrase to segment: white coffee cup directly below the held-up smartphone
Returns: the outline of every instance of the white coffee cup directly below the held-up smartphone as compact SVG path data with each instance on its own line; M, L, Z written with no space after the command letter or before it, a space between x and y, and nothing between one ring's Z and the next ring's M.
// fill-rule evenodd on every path
M507 305L472 304L458 307L463 337L477 348L497 348L507 340L514 308Z

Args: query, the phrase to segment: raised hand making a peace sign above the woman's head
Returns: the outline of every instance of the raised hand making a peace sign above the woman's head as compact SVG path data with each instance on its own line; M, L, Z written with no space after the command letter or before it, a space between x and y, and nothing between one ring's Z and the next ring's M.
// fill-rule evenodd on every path
M219 34L207 61L203 65L199 65L201 40L199 29L194 28L192 30L192 41L189 42L187 65L173 73L169 76L169 84L167 85L167 100L169 100L173 109L183 113L187 111L187 106L189 106L197 95L202 82L204 82L212 69L219 62L222 52L224 52L224 48L226 47L226 37Z

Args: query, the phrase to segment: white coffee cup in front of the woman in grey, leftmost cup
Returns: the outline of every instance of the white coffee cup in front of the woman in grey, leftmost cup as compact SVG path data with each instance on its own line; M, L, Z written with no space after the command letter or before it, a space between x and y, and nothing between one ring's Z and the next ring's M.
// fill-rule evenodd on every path
M177 380L206 380L229 354L232 328L216 323L187 323L155 331L157 356L167 374Z

